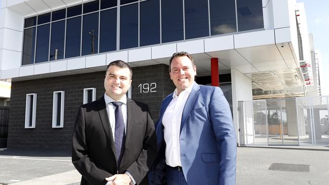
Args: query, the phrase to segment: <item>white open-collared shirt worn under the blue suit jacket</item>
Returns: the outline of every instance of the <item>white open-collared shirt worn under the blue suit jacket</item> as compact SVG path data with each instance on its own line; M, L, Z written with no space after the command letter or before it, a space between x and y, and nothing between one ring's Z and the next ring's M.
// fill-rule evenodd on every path
M172 167L182 166L179 146L182 114L194 83L183 90L179 96L177 96L177 88L175 89L173 100L169 103L162 117L163 135L166 141L166 163Z

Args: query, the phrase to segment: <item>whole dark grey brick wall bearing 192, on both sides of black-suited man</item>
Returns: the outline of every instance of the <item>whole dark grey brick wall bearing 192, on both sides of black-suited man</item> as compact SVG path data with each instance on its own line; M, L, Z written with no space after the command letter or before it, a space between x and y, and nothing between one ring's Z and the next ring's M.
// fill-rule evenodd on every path
M70 150L78 107L83 104L83 89L95 87L96 99L104 95L104 72L94 72L18 81L12 83L8 129L9 149ZM156 92L139 93L140 83L157 83ZM163 98L174 90L168 66L159 64L133 68L132 98L150 106L158 119ZM64 127L52 128L53 92L65 91ZM35 128L24 128L26 94L36 93Z

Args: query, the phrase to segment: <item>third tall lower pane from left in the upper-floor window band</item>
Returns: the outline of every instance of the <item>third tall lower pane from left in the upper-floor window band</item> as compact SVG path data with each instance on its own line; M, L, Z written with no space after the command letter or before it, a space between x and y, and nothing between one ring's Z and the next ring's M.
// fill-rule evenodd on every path
M50 60L64 58L65 20L52 23Z

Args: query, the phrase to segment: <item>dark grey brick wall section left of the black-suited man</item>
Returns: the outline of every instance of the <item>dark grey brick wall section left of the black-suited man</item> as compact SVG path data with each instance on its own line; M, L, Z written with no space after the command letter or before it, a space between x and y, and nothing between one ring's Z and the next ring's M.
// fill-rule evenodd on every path
M83 89L104 94L104 72L76 74L12 83L8 131L9 149L70 150L72 129ZM53 92L64 90L64 127L52 128ZM36 93L35 128L24 128L26 94Z

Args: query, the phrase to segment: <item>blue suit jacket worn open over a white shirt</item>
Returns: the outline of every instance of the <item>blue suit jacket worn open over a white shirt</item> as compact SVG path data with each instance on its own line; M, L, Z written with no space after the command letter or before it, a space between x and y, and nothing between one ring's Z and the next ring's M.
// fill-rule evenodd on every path
M162 116L173 94L162 101L155 124L158 156L149 172L150 184L165 184ZM235 184L236 139L230 107L219 87L194 83L180 128L180 154L187 184Z

